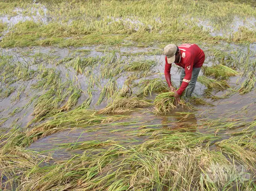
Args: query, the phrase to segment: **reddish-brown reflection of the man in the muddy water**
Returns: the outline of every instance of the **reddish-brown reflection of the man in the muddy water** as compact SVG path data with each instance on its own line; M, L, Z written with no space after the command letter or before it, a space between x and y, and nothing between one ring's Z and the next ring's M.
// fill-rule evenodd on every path
M194 132L197 129L197 118L193 113L175 113L169 117L163 116L162 126L168 129L185 128Z

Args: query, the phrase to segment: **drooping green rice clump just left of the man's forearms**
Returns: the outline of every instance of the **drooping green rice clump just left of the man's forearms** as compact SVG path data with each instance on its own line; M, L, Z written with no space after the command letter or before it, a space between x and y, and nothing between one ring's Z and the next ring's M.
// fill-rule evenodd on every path
M151 95L152 91L156 93L169 91L168 86L166 86L166 84L158 78L152 80L143 80L140 81L139 84L142 84L139 92L144 96L148 95L148 93Z

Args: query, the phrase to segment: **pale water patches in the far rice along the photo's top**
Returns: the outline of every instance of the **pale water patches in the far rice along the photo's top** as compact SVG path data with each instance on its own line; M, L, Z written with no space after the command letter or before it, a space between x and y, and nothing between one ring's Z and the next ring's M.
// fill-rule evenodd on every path
M83 20L83 17L80 17L79 20ZM98 20L103 20L104 18L98 18ZM149 24L145 24L136 17L113 17L107 16L108 25L113 23L122 23L124 26L129 29L138 31L141 27L147 28L148 31L152 30L152 26ZM73 21L78 20L78 18L69 18L66 20L65 18L56 18L56 16L50 15L47 8L40 3L35 3L34 7L32 7L29 11L21 8L15 8L12 11L12 15L0 15L0 22L8 25L8 29L6 29L2 36L0 36L0 40L5 37L5 35L12 29L15 24L23 23L25 21L34 21L35 23L43 23L49 24L50 22L58 21L61 24L72 24ZM256 18L255 17L247 17L241 18L238 15L230 16L229 18L212 18L211 20L207 18L187 18L186 15L181 17L181 20L192 22L192 26L196 25L198 27L202 27L203 30L206 30L212 36L222 36L225 38L229 38L233 35L233 33L239 32L241 28L246 28L248 30L256 30ZM227 20L229 22L227 22ZM155 22L162 23L160 17L155 17ZM187 24L190 25L190 24ZM160 30L159 33L162 33L163 30Z

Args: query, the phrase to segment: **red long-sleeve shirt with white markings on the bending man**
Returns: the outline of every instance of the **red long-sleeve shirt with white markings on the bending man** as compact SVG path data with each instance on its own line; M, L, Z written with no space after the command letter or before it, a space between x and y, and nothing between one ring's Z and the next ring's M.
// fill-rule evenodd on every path
M179 63L175 64L185 69L185 77L177 91L177 93L181 95L191 80L193 68L202 67L205 55L203 50L196 44L182 44L178 48L180 50L181 59ZM167 57L165 57L165 79L169 87L172 85L170 74L171 67L172 64L169 64Z

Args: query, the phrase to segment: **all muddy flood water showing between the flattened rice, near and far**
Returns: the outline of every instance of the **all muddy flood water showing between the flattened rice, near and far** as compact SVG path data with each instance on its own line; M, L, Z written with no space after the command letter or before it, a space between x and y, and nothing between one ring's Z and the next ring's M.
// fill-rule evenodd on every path
M41 11L41 14L39 10ZM9 15L0 15L0 22L7 23L8 29L3 32L3 35L0 36L0 40L5 38L5 35L11 30L11 28L19 23L24 21L34 21L34 22L40 22L43 24L48 24L55 20L55 18L50 17L47 15L47 8L43 5L37 5L37 8L32 8L31 16L23 15L23 9L15 9L14 10L17 15L14 15L10 17ZM112 20L109 24L113 22L125 22L126 25L133 26L135 30L139 30L140 27L145 27L145 24L143 24L141 21L137 20L137 18L114 18L110 17ZM189 18L191 20L191 18ZM192 18L193 19L193 18ZM71 24L73 20L68 21L68 24ZM161 23L160 18L156 18L157 22ZM232 22L230 22L229 26L224 27L222 30L215 30L213 25L218 24L218 20L202 20L200 18L195 18L195 23L203 27L204 30L208 30L210 32L210 35L212 36L230 36L234 32L239 31L239 27L246 27L247 29L254 30L256 25L256 19L255 17L249 17L246 19L241 19L237 16L232 18ZM147 26L148 29L151 29L151 26ZM201 45L203 49L207 49L207 45L202 44ZM218 46L218 45L217 45ZM37 69L38 63L43 63L46 68L55 68L56 61L62 60L67 57L73 57L80 56L81 58L85 58L88 56L104 56L103 53L104 49L106 47L98 47L98 46L90 46L90 47L79 47L79 48L55 48L55 47L31 47L31 48L7 48L7 49L0 49L0 54L6 55L12 55L14 56L15 61L23 62L23 63L34 63L33 65L30 65L31 69ZM108 47L107 47L108 48ZM159 49L157 47L151 47L151 48L136 48L136 47L127 47L127 48L112 48L113 50L120 51L120 53L143 53L145 51L151 51L152 48ZM231 51L247 51L247 46L241 46L236 44L227 44L222 43L219 45L220 50L231 52ZM111 49L111 48L110 48ZM256 51L256 44L250 44L249 49L251 51ZM88 50L88 54L82 54L81 52L78 52L78 50ZM37 55L35 57L35 55ZM117 53L118 57L121 59L126 59L126 56L121 56L119 53ZM256 54L255 54L256 55ZM211 57L206 58L206 62L204 65L212 65L213 61L210 59ZM142 59L141 57L134 57L134 60L136 59ZM143 59L145 60L155 60L157 62L157 66L154 68L156 74L151 75L149 78L159 78L161 77L162 80L165 80L163 72L164 72L164 65L165 65L165 59L164 56L156 55L156 56L144 56ZM251 57L250 59L255 59L254 57ZM56 66L56 69L61 72L62 75L69 75L70 79L74 79L76 76L76 72L73 68L67 68L63 65ZM172 75L172 81L174 81L175 84L179 84L179 70L177 67L173 66L171 70ZM200 74L201 75L201 74ZM87 89L87 78L84 75L77 75L78 80L81 84L81 89L86 90ZM147 79L147 78L145 78ZM126 80L125 77L121 76L117 79L117 83L120 87L122 87L124 81ZM232 84L235 87L238 87L239 85L236 84L237 78L231 78L230 84ZM42 92L29 92L28 95L26 93L30 89L31 84L35 83L36 80L30 80L25 83L26 90L24 95L21 96L21 99L17 102L12 101L12 96L14 96L17 92L12 93L8 98L0 100L0 123L2 122L2 119L5 119L9 117L9 113L14 111L15 108L23 108L28 102L29 97L31 96L40 96ZM102 86L107 81L102 81ZM20 84L15 83L14 86L19 87ZM200 83L196 84L195 88L195 94L198 96L202 96L203 92L206 88L202 86ZM99 98L99 88L96 89L96 91L93 93L93 102L91 104L91 107L94 107L95 109L104 108L106 103L103 103L99 106L94 105L98 98ZM215 95L221 96L224 92L218 92ZM148 99L154 99L155 94L152 96L148 96ZM86 99L86 96L81 96L78 101L78 105L81 104ZM104 142L104 141L112 141L118 144L121 144L123 146L133 146L136 144L141 144L147 140L152 139L150 134L139 135L138 132L140 132L143 129L165 129L168 131L168 129L174 129L174 128L184 128L187 131L188 127L195 127L190 128L190 131L198 131L201 133L207 132L207 129L199 128L198 125L200 125L201 120L203 119L210 119L215 120L219 118L226 118L226 119L233 119L244 122L250 122L255 119L256 114L256 95L255 95L255 89L252 90L250 93L247 93L245 95L240 95L239 93L235 93L234 95L230 96L227 99L220 99L217 101L213 100L207 100L214 104L214 107L211 106L197 106L197 111L195 111L193 114L190 114L190 116L187 119L183 119L186 114L181 114L180 112L189 112L187 110L181 110L177 109L172 111L171 113L168 113L166 115L160 115L156 116L150 111L151 108L145 108L139 111L135 111L133 113L129 113L131 119L129 120L123 120L121 122L126 123L126 125L114 125L107 124L107 125L98 125L98 126L89 126L87 128L76 128L72 130L62 131L58 132L52 135L49 135L45 138L39 139L35 143L33 143L28 149L35 150L37 152L41 152L43 155L48 155L51 153L55 158L68 158L72 153L78 153L81 154L84 152L84 150L68 150L66 147L63 146L65 143L70 143L72 146L79 144L80 142L84 141L98 141L98 142ZM15 120L17 121L18 126L24 127L26 124L33 119L33 116L31 115L33 112L33 102L31 105L29 105L27 108L22 109L20 112L15 114L12 117L9 117L8 120L6 120L3 125L1 125L2 129L8 129L13 127L12 122ZM145 112L145 113L144 113ZM256 129L256 127L254 127ZM239 130L239 129L238 129ZM237 131L237 129L227 129L227 132L233 132ZM222 138L229 138L226 135L222 135ZM214 148L213 148L214 149ZM242 165L238 166L238 168L242 168L241 172L246 169ZM244 168L244 169L243 169ZM252 174L250 172L250 174ZM248 177L245 177L248 178ZM2 183L5 183L7 179L3 180ZM9 185L8 185L9 186ZM14 186L15 187L15 186Z

